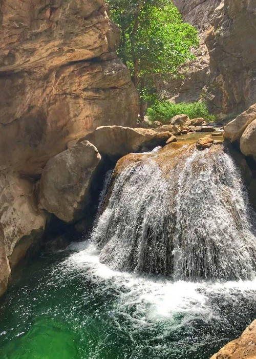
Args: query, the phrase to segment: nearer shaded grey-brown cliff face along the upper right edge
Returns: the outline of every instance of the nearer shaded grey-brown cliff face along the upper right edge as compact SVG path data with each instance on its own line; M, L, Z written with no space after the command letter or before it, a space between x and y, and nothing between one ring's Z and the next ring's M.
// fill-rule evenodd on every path
M207 34L212 104L225 113L256 102L255 9L254 0L222 0Z

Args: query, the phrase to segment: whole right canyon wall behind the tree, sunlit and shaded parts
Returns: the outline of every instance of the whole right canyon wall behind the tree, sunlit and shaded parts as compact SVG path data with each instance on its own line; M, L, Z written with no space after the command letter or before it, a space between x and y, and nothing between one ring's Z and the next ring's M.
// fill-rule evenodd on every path
M206 99L215 113L239 113L256 102L256 1L174 0L185 21L199 30L197 59L184 79L160 86L174 102Z

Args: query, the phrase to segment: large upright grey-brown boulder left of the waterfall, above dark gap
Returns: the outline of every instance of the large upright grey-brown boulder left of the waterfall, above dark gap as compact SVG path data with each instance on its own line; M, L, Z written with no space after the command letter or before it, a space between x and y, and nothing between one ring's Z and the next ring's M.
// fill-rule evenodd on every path
M97 148L82 141L51 158L42 172L39 206L72 223L85 215L91 184L101 161Z

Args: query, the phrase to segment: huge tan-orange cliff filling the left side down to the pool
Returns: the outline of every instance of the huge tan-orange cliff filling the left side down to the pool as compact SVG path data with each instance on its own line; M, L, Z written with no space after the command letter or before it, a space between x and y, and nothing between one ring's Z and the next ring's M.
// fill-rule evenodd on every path
M98 126L136 124L107 10L104 0L0 0L0 294L6 257L17 263L44 231L37 187L49 159Z

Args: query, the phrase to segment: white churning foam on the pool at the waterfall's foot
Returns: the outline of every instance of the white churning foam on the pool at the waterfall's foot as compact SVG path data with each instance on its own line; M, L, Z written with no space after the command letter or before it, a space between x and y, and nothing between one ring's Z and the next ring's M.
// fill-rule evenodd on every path
M255 296L256 280L173 282L162 276L112 270L100 263L99 250L90 242L73 244L69 249L74 253L61 264L62 270L79 271L79 275L89 275L96 284L103 281L105 286L115 288L119 293L116 309L128 315L130 309L136 307L132 318L137 318L134 321L136 326L167 321L169 328L177 313L186 314L185 321L193 320L195 316L200 316L205 322L212 318L221 320L220 309L212 303L212 298L221 296L232 303L239 301L239 293L251 299Z

